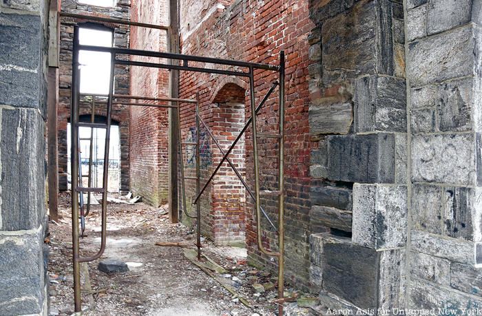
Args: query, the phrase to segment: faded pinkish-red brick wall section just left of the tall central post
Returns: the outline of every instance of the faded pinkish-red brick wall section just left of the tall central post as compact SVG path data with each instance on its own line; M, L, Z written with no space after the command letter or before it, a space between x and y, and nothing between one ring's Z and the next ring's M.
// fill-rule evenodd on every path
M167 25L167 1L132 1L132 21ZM148 28L131 28L131 48L165 52L166 32ZM153 57L132 56L133 61L156 63ZM131 67L130 94L136 96L166 96L168 72L156 68ZM142 101L145 102L145 101ZM153 101L147 101L153 103ZM156 107L130 107L130 178L134 195L158 206L167 203L168 155L167 109Z

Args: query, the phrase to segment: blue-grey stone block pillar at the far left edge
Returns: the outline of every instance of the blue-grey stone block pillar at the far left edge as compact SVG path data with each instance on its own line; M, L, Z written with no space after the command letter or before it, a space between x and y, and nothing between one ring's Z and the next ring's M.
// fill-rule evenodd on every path
M0 314L46 315L48 7L0 3Z

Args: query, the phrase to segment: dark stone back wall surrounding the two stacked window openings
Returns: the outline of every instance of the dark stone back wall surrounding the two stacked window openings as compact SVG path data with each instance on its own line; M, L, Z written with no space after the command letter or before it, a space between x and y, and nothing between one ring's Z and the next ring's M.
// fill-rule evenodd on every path
M63 0L62 11L76 14L97 14L101 17L129 20L130 1L119 0L114 8L103 8L79 4L75 0ZM59 144L59 189L67 189L67 123L70 120L70 87L72 85L72 40L74 37L74 21L62 19L60 39L59 63L59 107L58 107L58 144ZM72 21L72 23L69 23ZM115 45L120 48L129 48L129 27L127 25L115 26ZM129 94L129 66L116 65L115 70L116 94ZM91 102L81 98L80 114L90 114ZM96 114L105 116L105 105L96 105ZM129 190L129 112L124 105L113 105L112 118L119 122L121 137L121 191Z

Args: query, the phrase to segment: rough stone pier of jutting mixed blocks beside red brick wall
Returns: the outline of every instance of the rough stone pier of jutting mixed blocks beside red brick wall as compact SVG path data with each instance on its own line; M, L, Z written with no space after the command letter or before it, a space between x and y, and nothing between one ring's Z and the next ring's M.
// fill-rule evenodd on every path
M404 306L406 79L401 1L311 1L311 291Z

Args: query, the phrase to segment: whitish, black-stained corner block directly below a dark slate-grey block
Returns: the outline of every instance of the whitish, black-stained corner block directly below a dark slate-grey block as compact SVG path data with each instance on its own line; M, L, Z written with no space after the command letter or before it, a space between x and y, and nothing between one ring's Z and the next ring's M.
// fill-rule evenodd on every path
M372 249L404 246L407 229L407 188L353 186L352 241Z

